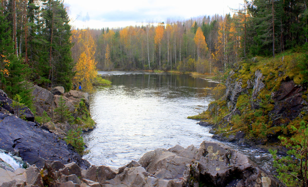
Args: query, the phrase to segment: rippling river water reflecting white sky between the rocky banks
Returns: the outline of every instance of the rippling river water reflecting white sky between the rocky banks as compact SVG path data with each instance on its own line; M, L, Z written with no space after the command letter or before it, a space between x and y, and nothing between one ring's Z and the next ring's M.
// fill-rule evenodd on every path
M199 147L211 139L209 127L187 119L206 110L211 96L203 90L215 82L190 75L99 71L111 86L97 86L90 96L96 129L84 133L90 153L83 158L93 165L119 168L157 148L175 145ZM225 143L272 171L270 155Z

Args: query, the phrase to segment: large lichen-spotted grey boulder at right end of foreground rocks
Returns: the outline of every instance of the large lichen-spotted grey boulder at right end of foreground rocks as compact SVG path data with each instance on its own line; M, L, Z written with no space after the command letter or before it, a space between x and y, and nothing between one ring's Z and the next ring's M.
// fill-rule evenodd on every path
M213 186L227 186L230 183L232 186L266 186L265 183L281 186L247 156L217 142L202 142L196 155L195 168L195 177Z

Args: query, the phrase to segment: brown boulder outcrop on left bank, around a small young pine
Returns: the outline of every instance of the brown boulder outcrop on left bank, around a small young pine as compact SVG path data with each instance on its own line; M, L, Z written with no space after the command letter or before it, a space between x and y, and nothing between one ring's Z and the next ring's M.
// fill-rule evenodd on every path
M33 85L33 103L37 116L43 116L47 113L51 121L45 122L45 125L51 131L59 135L65 135L70 129L81 127L83 131L95 128L95 122L91 119L89 112L89 95L77 90L70 90L65 93L62 86L53 88L50 92L42 87ZM59 107L60 97L65 101L69 112L72 113L74 121L71 123L59 121L55 109Z

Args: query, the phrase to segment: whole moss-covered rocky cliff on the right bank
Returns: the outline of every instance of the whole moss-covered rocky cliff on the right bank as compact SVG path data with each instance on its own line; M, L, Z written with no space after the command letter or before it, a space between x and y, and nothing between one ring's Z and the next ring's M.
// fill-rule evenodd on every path
M291 126L308 121L307 88L298 67L300 54L253 58L231 70L224 97L194 118L213 125L213 138L239 144L277 144L294 137Z

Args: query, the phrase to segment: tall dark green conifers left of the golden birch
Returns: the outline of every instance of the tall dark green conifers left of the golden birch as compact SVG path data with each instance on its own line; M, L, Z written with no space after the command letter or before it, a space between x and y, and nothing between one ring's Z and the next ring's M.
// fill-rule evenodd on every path
M74 62L69 21L60 0L0 1L2 90L24 98L29 81L70 90Z

